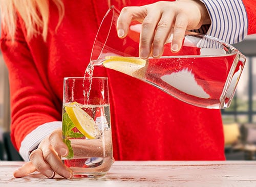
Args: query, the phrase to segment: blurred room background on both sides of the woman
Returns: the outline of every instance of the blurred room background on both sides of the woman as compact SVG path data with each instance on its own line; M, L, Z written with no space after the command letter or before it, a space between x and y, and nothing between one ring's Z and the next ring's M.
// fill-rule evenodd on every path
M222 110L227 160L256 159L256 35L234 44L247 62L231 106ZM8 71L0 52L0 160L22 160L10 140Z

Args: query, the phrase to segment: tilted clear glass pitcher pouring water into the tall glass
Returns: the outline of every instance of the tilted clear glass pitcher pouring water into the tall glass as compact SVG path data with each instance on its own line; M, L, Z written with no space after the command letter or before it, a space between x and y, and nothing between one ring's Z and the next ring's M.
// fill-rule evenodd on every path
M119 13L111 7L104 16L89 66L125 73L202 108L229 107L246 61L239 50L217 38L187 32L179 52L170 50L170 35L161 58L143 60L139 58L141 23L132 21L129 33L120 39Z

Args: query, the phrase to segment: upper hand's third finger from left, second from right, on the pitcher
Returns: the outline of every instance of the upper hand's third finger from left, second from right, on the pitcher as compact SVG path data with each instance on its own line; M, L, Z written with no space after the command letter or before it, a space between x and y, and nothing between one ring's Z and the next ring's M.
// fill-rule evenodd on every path
M157 24L152 46L152 56L154 58L158 58L163 54L163 45L166 42L172 29L173 19L173 11L164 12L160 21Z

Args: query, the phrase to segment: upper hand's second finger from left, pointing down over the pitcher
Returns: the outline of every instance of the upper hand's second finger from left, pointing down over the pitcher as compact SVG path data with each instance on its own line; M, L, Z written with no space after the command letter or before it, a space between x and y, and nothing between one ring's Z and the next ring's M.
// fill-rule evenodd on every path
M140 57L142 59L148 58L151 54L155 29L160 17L160 11L152 10L151 12L148 12L142 22L140 33Z

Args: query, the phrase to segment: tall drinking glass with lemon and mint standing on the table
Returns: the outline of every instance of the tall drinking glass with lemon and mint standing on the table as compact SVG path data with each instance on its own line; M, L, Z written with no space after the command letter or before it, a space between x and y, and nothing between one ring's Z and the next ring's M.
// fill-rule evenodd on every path
M63 90L63 157L74 177L102 177L113 164L107 77L66 77Z

